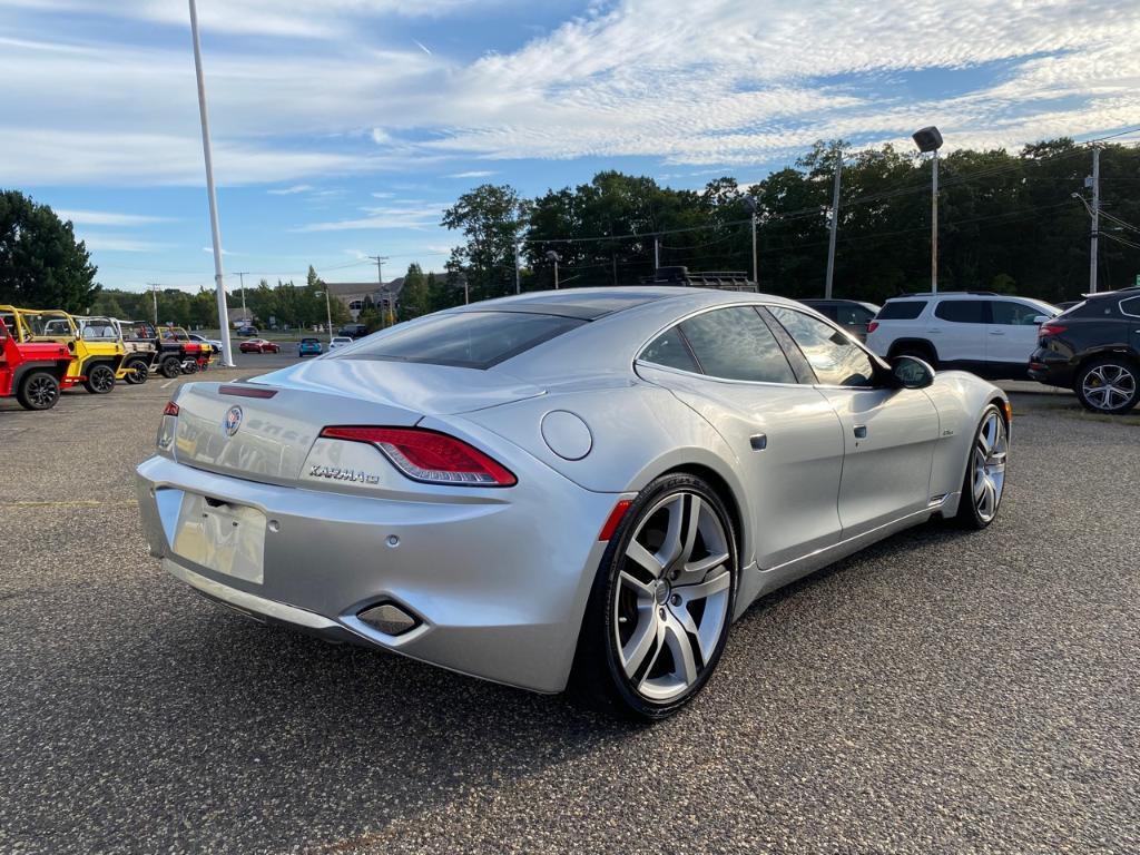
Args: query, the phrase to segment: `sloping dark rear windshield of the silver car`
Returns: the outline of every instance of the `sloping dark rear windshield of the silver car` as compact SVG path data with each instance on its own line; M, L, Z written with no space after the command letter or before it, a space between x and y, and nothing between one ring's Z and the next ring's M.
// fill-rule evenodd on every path
M586 323L520 311L464 311L393 327L332 358L490 368Z

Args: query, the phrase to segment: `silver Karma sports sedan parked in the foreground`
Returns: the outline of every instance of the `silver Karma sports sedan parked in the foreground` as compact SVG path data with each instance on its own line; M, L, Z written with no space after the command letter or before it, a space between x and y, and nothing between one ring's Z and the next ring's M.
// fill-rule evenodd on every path
M583 288L182 385L138 486L164 568L250 617L658 718L757 597L988 526L1009 425L789 300Z

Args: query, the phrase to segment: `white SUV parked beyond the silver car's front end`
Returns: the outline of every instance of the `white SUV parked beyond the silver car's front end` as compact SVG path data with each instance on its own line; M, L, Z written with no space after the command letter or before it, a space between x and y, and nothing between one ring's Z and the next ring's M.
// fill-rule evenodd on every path
M888 359L906 353L936 368L1020 378L1028 376L1037 328L1059 314L1041 300L985 291L905 294L868 324L866 345Z

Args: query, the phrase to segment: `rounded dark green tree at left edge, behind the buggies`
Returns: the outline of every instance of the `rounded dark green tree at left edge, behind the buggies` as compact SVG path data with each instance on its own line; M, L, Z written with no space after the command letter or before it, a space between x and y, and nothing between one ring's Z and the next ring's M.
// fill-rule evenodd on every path
M0 192L0 302L83 312L100 286L70 221L18 190Z

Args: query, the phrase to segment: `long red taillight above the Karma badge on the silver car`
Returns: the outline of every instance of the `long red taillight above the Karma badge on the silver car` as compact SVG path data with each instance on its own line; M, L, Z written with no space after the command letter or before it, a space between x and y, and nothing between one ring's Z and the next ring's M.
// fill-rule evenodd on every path
M421 427L325 427L327 439L368 442L414 481L456 487L512 487L519 480L478 448Z

